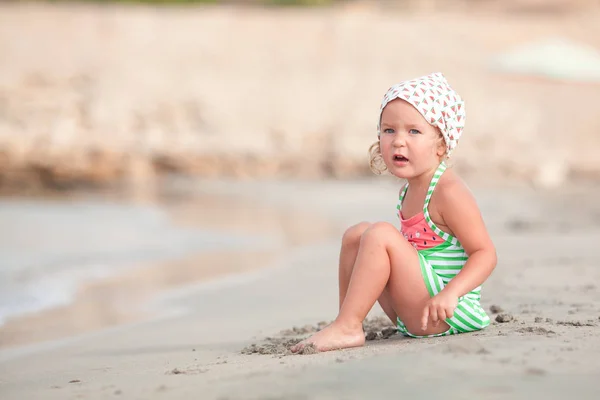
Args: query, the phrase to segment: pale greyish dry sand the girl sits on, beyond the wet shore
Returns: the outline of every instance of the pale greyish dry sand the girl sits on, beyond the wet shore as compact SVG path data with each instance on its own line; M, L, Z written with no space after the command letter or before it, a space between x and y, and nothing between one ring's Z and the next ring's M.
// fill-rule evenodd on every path
M182 185L194 191L189 182ZM196 194L260 199L291 214L311 210L338 228L328 238L290 246L275 266L154 300L179 310L176 315L1 351L3 399L597 398L598 188L474 188L500 260L483 291L484 307L494 306L488 329L425 340L391 335L363 348L291 356L285 341L335 316L343 227L393 222L397 184L195 187ZM582 202L575 206L574 199ZM370 317L381 315L376 307Z

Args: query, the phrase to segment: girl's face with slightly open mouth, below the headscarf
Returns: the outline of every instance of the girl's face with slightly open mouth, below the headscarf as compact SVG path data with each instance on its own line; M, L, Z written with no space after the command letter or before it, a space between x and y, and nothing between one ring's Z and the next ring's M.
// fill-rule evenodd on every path
M392 100L383 109L379 146L388 171L403 179L437 168L446 152L438 129L401 99Z

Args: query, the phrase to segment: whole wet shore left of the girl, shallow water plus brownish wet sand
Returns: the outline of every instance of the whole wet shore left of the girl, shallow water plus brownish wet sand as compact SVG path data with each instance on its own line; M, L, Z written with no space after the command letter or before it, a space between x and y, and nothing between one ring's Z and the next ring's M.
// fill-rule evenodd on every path
M176 186L143 200L114 192L0 200L0 350L164 317L177 310L156 303L160 296L266 268L337 232L235 183L212 193Z

